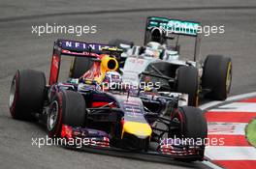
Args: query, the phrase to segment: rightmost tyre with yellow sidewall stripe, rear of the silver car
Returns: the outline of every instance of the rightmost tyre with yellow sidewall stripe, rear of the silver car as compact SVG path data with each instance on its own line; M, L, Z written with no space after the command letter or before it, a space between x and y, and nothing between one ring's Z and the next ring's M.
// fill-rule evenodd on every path
M227 99L231 81L231 58L221 55L208 55L202 77L202 87L211 90L206 97L217 100Z

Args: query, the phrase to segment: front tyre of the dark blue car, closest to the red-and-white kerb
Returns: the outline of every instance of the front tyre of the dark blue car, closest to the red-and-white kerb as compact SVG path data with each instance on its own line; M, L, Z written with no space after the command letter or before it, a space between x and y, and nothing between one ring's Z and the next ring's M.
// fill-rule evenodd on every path
M177 138L193 139L195 142L201 140L199 156L190 158L192 160L203 160L205 154L205 139L208 136L208 125L203 111L196 107L183 106L171 114L171 120L178 122L179 127L172 132ZM201 144L202 143L202 144Z

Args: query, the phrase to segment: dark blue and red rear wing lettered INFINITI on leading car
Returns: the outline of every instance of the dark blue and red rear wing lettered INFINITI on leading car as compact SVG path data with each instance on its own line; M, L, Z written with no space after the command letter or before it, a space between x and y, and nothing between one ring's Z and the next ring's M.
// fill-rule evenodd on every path
M97 59L100 54L108 53L107 49L115 49L115 46L102 43L88 43L88 42L77 42L69 40L57 40L53 45L53 52L50 65L50 74L48 84L52 85L57 82L61 56L73 56L73 57L90 57ZM114 51L113 51L114 52ZM120 53L116 49L117 53Z

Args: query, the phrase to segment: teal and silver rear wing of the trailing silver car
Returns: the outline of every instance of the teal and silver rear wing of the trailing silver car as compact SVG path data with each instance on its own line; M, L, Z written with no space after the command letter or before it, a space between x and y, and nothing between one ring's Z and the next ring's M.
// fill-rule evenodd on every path
M150 42L151 31L153 29L159 29L162 32L164 39L173 39L172 34L189 36L195 38L195 48L194 48L194 61L198 60L199 55L199 27L200 22L189 21L189 20L179 20L166 17L149 16L145 23L145 33L144 33L144 45Z

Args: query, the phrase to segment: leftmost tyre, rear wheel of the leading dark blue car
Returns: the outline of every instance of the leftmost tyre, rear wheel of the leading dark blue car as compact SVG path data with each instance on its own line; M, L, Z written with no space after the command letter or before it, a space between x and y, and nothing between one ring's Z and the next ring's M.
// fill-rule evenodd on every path
M14 119L34 121L43 110L46 77L38 70L17 70L13 78L9 107Z

